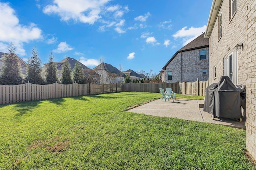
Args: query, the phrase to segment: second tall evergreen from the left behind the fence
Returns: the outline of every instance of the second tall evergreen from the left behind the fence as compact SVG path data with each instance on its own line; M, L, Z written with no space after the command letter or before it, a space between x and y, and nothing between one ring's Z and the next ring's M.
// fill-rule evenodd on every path
M33 84L42 84L43 78L41 75L41 60L38 57L38 50L36 46L32 49L32 56L28 59L27 77L26 81Z

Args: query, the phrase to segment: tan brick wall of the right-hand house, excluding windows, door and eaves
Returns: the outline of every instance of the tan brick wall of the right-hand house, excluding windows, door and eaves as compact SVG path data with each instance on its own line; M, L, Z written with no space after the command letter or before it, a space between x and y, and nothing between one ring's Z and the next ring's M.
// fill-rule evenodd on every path
M222 14L222 37L218 38L218 17L211 36L210 84L224 76L224 58L231 51L238 54L238 84L246 85L246 149L256 159L256 1L237 2L233 17L229 14L229 0L223 0L218 16ZM236 49L243 43L244 50ZM216 78L213 68L216 66Z

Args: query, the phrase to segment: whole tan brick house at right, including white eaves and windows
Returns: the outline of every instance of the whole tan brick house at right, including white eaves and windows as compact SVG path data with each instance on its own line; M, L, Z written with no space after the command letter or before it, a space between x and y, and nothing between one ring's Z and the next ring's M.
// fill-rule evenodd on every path
M246 149L256 158L256 1L213 0L205 37L210 84L229 76L246 85Z

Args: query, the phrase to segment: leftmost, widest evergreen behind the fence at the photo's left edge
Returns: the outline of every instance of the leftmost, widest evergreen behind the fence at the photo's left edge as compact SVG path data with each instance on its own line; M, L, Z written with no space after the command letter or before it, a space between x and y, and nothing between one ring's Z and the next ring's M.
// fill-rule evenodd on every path
M9 54L4 55L4 66L0 75L0 84L17 85L22 83L21 68L18 56L14 54L15 47L10 43L8 47Z

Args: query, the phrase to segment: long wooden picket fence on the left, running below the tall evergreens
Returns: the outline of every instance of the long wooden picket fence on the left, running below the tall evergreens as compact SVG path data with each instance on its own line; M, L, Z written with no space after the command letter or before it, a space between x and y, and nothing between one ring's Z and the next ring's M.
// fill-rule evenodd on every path
M32 84L0 85L0 104L120 92L121 84Z

